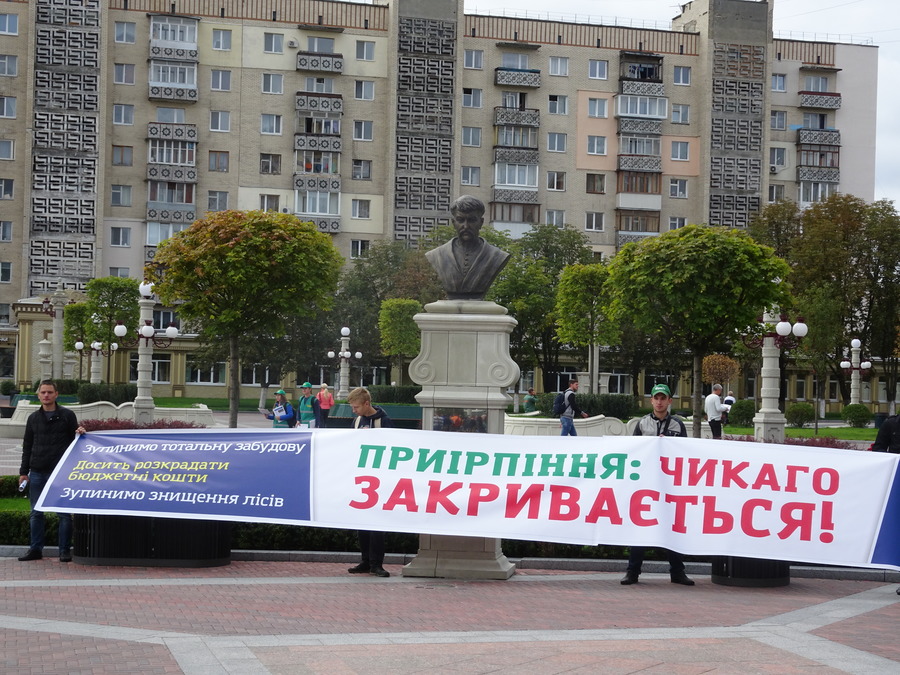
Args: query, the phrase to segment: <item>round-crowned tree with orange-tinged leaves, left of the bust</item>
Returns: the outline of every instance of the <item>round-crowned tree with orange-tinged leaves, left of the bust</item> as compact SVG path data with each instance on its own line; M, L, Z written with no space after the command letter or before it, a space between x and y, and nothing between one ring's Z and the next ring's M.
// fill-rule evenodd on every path
M283 335L290 317L327 309L343 258L312 223L271 211L217 211L162 242L145 270L203 343L228 345L230 427L237 426L242 345ZM252 362L252 359L250 359Z

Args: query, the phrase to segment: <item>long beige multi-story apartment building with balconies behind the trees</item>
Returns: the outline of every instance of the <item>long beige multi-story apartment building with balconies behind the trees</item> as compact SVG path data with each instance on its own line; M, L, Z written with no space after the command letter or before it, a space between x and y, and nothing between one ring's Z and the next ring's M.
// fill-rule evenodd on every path
M4 2L0 377L17 325L20 382L49 330L21 299L140 279L209 210L296 213L352 258L469 193L495 227L568 224L610 256L781 198L871 199L877 49L775 39L772 5L694 0L650 30L462 0ZM163 371L190 384L178 350Z

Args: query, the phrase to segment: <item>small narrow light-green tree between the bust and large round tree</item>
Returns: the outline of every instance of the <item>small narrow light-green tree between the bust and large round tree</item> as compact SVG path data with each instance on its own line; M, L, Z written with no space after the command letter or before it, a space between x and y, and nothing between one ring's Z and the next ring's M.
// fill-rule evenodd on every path
M576 263L563 269L556 289L556 337L576 347L588 348L588 372L591 391L597 391L594 378L595 345L609 344L617 339L615 324L606 317L604 285L609 270L603 263Z

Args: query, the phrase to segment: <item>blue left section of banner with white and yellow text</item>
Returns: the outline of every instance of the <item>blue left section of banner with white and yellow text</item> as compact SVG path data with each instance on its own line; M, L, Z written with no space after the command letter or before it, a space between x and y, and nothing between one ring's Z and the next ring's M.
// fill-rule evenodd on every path
M172 430L76 438L39 507L257 522L310 518L311 434Z

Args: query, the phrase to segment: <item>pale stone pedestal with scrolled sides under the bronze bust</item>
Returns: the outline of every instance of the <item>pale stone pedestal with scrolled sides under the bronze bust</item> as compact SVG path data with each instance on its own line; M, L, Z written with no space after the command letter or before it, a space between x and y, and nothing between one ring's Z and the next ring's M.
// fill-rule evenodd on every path
M503 433L509 386L519 379L519 366L509 356L509 335L516 320L493 302L441 300L415 316L422 348L409 365L412 380L422 386L422 426L448 410L477 418L481 431ZM499 539L422 534L416 558L403 576L457 579L508 579L513 565L500 550Z

